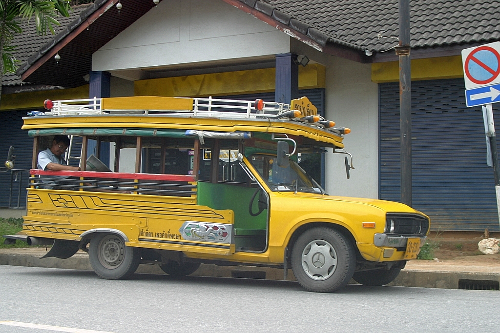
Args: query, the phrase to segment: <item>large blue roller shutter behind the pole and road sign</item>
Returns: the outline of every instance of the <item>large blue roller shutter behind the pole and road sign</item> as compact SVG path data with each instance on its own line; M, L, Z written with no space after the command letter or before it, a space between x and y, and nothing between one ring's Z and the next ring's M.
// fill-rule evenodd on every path
M481 108L465 106L463 79L411 84L413 208L433 230L497 231ZM379 84L379 111L379 197L400 201L397 82ZM493 113L498 128L498 104Z

